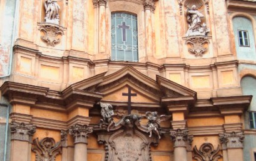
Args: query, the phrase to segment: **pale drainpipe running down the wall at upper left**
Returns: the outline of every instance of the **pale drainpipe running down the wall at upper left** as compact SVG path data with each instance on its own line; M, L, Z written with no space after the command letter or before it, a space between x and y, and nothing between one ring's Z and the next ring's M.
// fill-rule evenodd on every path
M10 61L9 61L9 71L8 74L5 76L0 76L1 78L4 77L9 77L11 75L11 67L13 64L13 46L14 46L14 39L16 36L16 26L17 26L17 21L18 21L18 17L19 17L19 0L16 0L16 6L15 6L15 11L14 11L14 22L13 22L13 36L11 39L11 49L10 49Z

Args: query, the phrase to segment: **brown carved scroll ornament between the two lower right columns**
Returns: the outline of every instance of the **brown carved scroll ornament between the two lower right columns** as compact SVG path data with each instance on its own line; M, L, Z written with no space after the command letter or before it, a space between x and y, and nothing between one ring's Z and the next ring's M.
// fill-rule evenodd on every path
M193 149L193 159L197 161L217 161L222 157L220 152L220 146L218 145L217 149L214 150L214 147L210 143L204 143L201 145L200 149L197 149L197 146Z

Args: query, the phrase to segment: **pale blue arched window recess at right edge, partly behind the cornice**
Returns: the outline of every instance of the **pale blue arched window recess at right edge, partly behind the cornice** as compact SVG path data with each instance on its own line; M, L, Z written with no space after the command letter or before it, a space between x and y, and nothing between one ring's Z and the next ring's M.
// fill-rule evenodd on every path
M245 117L247 117L247 119L245 119L245 125L247 127L249 125L250 129L256 129L256 90L252 88L256 87L256 79L249 76L243 77L241 87L243 95L253 95L248 113L245 115Z

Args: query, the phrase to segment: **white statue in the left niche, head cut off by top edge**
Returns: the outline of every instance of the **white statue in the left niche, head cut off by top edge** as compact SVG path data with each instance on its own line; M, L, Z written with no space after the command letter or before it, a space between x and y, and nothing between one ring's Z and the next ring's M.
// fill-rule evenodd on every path
M60 1L60 0L59 0ZM44 7L46 10L46 17L44 19L46 22L59 24L59 4L57 3L58 0L45 0Z

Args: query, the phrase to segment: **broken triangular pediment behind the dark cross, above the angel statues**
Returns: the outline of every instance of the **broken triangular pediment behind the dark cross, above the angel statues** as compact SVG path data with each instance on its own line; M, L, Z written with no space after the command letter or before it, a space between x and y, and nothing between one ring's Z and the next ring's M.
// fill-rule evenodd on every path
M160 104L163 98L196 97L196 92L183 87L171 80L156 76L156 80L145 76L131 66L123 67L113 74L107 72L98 74L89 79L82 80L70 86L72 89L96 92L103 95L108 102L127 102L123 93L131 88L136 97L132 98L134 104Z

